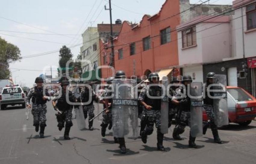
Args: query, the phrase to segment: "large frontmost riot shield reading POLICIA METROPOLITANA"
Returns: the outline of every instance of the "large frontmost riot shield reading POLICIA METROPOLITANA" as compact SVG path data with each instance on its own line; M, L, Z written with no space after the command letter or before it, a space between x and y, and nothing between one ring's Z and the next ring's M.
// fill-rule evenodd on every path
M136 83L130 79L114 79L112 99L112 129L115 137L138 137L138 100Z

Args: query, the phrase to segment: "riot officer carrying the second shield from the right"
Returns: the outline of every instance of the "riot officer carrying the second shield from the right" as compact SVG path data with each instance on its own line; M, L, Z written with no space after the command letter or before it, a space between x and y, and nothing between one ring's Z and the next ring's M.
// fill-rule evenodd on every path
M190 97L187 94L188 85L192 82L191 76L183 76L182 84L185 85L185 88L180 86L176 89L176 92L172 98L172 103L179 106L179 121L178 125L173 130L173 139L182 140L180 134L182 134L185 130L186 123L190 126ZM186 91L184 91L184 89ZM186 92L186 96L182 96ZM178 99L178 97L183 97ZM189 133L189 147L197 148L195 144L195 137L191 136L191 132Z

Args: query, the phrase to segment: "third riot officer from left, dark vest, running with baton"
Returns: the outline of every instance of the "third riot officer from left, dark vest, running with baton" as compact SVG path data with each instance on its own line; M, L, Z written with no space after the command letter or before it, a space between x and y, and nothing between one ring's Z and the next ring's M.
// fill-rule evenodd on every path
M84 90L82 90L80 93L81 102L89 103L89 104L83 106L84 118L85 119L87 118L87 113L88 113L88 115L89 115L88 121L91 120L92 118L94 118L93 101L97 100L97 96L96 96L95 92L93 90L91 91L91 94L89 92L90 92L89 87L85 86ZM90 96L92 97L91 100L89 99ZM90 100L90 102L89 102L89 100ZM89 121L89 130L93 130L92 125L93 125L93 120Z

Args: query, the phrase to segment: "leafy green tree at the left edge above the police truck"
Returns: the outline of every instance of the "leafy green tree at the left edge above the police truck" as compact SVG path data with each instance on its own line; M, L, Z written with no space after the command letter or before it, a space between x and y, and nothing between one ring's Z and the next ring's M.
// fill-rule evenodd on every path
M20 59L20 49L0 37L0 79L9 79L9 64Z

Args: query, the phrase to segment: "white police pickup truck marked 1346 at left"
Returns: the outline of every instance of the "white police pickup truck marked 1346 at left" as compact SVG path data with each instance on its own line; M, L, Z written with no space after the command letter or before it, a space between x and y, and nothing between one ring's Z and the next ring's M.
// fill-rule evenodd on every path
M8 105L14 106L17 104L26 107L25 94L19 85L6 85L0 94L0 108L4 110Z

